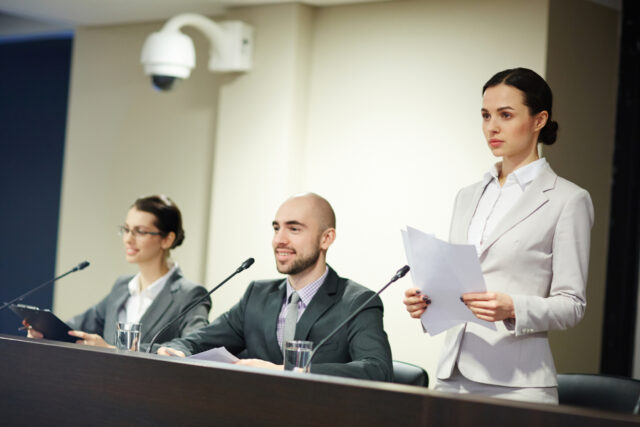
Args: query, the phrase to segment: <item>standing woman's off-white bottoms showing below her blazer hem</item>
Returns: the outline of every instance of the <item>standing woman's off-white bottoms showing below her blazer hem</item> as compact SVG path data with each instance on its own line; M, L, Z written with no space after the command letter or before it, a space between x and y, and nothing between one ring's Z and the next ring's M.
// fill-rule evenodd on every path
M446 380L436 378L433 389L446 393L479 394L499 399L558 404L557 387L505 387L477 383L465 378L458 370L458 366Z

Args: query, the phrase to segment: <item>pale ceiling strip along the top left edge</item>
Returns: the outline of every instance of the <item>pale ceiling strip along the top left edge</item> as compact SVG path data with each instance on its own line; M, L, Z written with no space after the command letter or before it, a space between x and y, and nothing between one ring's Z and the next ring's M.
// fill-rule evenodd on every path
M379 0L303 0L300 3L331 6L369 1ZM290 0L0 0L0 17L4 18L0 19L0 26L9 25L7 15L73 28L160 21L184 12L215 16L231 7L286 2Z

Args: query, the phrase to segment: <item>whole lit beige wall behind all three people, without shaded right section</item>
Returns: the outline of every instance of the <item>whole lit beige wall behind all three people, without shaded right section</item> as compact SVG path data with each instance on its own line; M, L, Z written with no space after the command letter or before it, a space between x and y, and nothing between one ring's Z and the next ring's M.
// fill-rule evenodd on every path
M176 253L187 276L212 287L256 258L215 295L212 316L249 280L277 277L270 222L299 191L336 209L330 264L377 290L406 263L400 228L447 238L456 191L494 162L482 84L507 67L547 69L548 0L285 4L227 17L254 26L254 68L215 76L200 65L169 95L151 91L138 64L161 23L77 33L58 270L83 257L94 266L58 286L61 316L132 271L111 230L135 196L156 191L188 221ZM433 374L442 336L406 315L410 284L383 295L385 327L394 358Z

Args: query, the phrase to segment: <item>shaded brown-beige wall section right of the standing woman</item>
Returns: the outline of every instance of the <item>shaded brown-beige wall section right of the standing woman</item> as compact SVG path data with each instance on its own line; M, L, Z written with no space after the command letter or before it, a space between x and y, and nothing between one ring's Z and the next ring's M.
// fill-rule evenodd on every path
M586 188L595 209L587 311L576 328L550 334L559 372L598 372L602 343L618 69L616 11L589 1L551 2L547 79L558 142L545 147L555 171Z

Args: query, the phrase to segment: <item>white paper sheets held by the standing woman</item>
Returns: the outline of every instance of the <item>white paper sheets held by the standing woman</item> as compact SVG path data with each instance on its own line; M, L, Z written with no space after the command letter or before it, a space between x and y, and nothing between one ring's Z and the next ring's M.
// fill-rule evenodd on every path
M401 233L413 282L432 301L421 317L429 335L465 322L496 330L492 322L478 319L460 301L466 292L486 292L473 245L447 243L411 227Z

